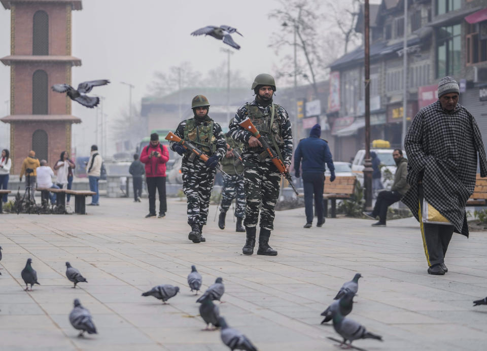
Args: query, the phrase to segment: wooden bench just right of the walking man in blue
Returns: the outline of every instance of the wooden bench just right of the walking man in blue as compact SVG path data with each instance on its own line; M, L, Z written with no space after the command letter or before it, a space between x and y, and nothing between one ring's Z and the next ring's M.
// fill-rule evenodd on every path
M323 206L324 216L328 217L328 199L331 200L331 218L336 218L336 200L349 200L355 194L355 175L347 177L336 177L330 182L330 178L325 179L323 187Z

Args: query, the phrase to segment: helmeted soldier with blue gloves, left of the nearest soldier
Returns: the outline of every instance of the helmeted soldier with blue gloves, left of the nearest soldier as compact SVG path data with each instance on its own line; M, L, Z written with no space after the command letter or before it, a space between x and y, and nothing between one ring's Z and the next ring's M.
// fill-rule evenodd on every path
M202 161L176 142L170 142L170 148L183 156L183 191L187 197L188 224L191 226L188 238L193 242L201 242L206 241L201 233L208 216L216 167L225 155L227 146L222 128L208 116L208 99L203 95L196 95L191 102L191 108L194 117L182 121L175 134L191 142L209 156L209 159Z

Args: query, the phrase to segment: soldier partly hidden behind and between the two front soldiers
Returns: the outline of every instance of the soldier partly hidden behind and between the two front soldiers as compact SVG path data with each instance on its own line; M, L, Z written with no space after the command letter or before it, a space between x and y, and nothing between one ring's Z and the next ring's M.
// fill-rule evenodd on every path
M230 122L231 124L231 122ZM230 132L225 134L225 141L239 154L242 153L242 143L238 143L231 138ZM245 215L245 188L243 179L243 165L240 159L227 150L225 157L221 161L223 174L222 203L220 205L220 216L218 217L218 227L225 229L225 217L232 200L235 198L235 217L237 225L235 231L245 232L242 226L243 216Z

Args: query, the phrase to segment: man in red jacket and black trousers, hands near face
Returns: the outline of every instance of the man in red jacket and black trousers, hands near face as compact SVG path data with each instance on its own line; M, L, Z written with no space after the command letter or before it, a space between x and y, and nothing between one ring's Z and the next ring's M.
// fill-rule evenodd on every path
M156 217L156 188L159 192L159 218L166 215L166 162L169 151L159 143L159 134L151 134L151 143L142 149L141 162L146 165L147 190L149 192L149 214Z

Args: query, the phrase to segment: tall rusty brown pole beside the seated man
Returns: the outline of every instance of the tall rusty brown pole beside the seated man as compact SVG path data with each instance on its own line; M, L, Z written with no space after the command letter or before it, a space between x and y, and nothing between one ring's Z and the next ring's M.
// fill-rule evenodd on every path
M365 210L372 210L372 161L370 159L370 36L369 36L369 0L364 5L364 71L365 71L365 159L364 159L364 187Z

